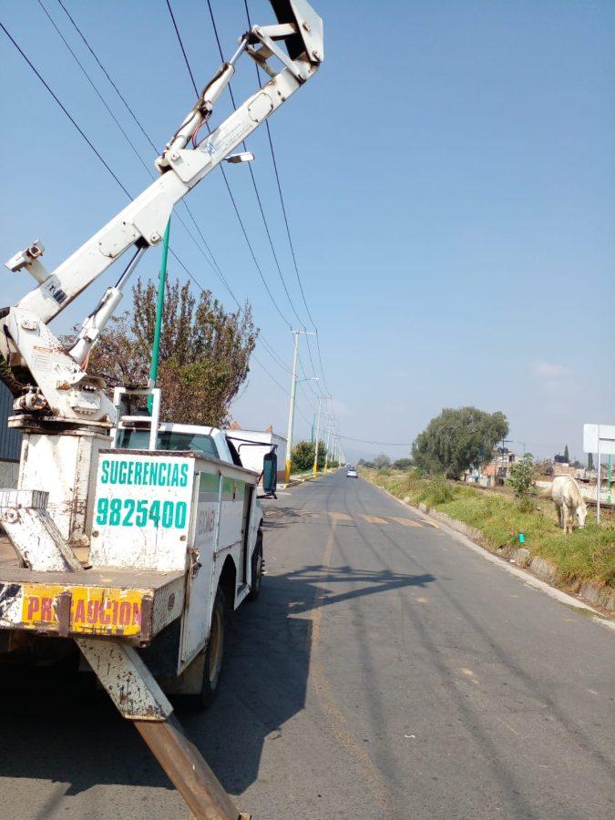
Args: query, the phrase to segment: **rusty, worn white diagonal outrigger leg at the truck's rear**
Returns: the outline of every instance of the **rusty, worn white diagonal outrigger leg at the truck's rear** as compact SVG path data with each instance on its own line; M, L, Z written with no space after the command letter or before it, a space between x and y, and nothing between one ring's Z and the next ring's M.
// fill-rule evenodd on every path
M0 491L0 522L26 566L37 572L76 572L77 556L50 518L48 494ZM33 545L36 545L33 547ZM233 804L134 647L122 641L77 638L77 646L121 715L135 724L169 780L198 820L250 820Z

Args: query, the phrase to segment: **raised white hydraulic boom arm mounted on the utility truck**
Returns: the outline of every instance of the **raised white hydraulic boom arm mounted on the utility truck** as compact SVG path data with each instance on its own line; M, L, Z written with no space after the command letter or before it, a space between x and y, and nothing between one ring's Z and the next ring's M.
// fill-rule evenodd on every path
M122 298L128 276L144 251L158 245L176 202L183 199L221 161L242 161L231 152L280 108L323 62L323 21L306 0L271 0L277 24L252 26L241 37L231 59L203 88L193 108L155 161L156 179L126 208L88 239L52 272L40 257L44 247L34 242L6 262L16 272L25 269L36 288L15 307L0 311L0 355L11 371L10 386L20 385L15 409L73 423L113 423L115 408L101 380L86 372L87 356ZM279 45L283 42L286 50ZM216 100L229 85L235 65L246 53L270 77L218 128L200 141ZM282 68L271 65L276 57ZM134 255L118 283L107 292L82 324L76 342L67 350L47 327L79 293L118 261L130 248ZM0 368L0 377L2 369ZM7 382L9 380L6 380Z

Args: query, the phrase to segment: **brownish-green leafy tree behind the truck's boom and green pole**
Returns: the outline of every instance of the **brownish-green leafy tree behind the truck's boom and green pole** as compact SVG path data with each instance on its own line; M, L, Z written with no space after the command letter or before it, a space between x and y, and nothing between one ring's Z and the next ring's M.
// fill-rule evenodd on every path
M138 279L134 308L111 319L90 355L88 372L108 387L147 384L158 289ZM250 372L258 330L251 307L226 313L210 291L195 297L188 283L167 282L158 386L162 417L179 424L222 426Z

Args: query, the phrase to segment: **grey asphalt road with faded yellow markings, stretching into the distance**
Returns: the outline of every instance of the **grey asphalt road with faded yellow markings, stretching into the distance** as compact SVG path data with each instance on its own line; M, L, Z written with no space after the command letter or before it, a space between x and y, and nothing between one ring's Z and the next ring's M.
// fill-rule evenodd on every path
M267 507L267 576L209 712L258 820L615 815L615 637L343 473ZM5 673L3 673L5 674ZM185 818L103 695L5 674L0 817Z

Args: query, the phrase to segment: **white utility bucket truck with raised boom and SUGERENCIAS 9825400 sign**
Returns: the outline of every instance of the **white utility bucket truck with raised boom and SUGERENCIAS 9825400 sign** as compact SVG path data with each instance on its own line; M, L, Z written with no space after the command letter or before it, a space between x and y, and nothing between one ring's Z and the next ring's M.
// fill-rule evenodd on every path
M253 159L231 151L323 62L323 21L311 5L271 3L277 21L241 36L156 159L159 179L53 271L41 262L40 241L16 253L6 266L30 273L36 287L0 310L0 377L15 397L9 425L23 436L18 487L0 490L10 547L0 549L0 652L36 656L41 641L76 641L198 817L238 813L170 720L162 687L201 702L215 691L224 606L260 586L259 476L221 431L160 424L155 387L117 389L111 399L87 361L175 203L221 161ZM210 129L243 54L269 79ZM60 343L49 323L130 250L74 343ZM127 402L137 411L123 410ZM275 474L272 453L265 491Z

